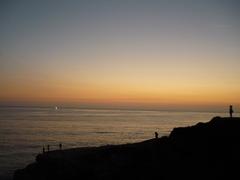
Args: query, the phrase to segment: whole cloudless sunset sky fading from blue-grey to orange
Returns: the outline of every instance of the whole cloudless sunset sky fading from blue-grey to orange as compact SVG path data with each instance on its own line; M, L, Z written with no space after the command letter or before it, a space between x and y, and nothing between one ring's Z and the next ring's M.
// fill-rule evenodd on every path
M238 0L0 3L0 103L240 105Z

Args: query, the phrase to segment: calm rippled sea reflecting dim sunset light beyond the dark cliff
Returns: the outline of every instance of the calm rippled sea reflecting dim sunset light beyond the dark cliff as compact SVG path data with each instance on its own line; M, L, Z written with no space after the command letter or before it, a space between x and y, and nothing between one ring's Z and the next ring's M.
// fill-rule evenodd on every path
M226 113L0 107L0 179L50 150L138 142Z

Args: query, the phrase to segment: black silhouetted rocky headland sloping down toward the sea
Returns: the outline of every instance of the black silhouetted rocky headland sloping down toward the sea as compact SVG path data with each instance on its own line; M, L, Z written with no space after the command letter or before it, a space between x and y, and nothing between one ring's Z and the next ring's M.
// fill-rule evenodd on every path
M175 128L141 143L39 154L14 180L240 179L240 118Z

